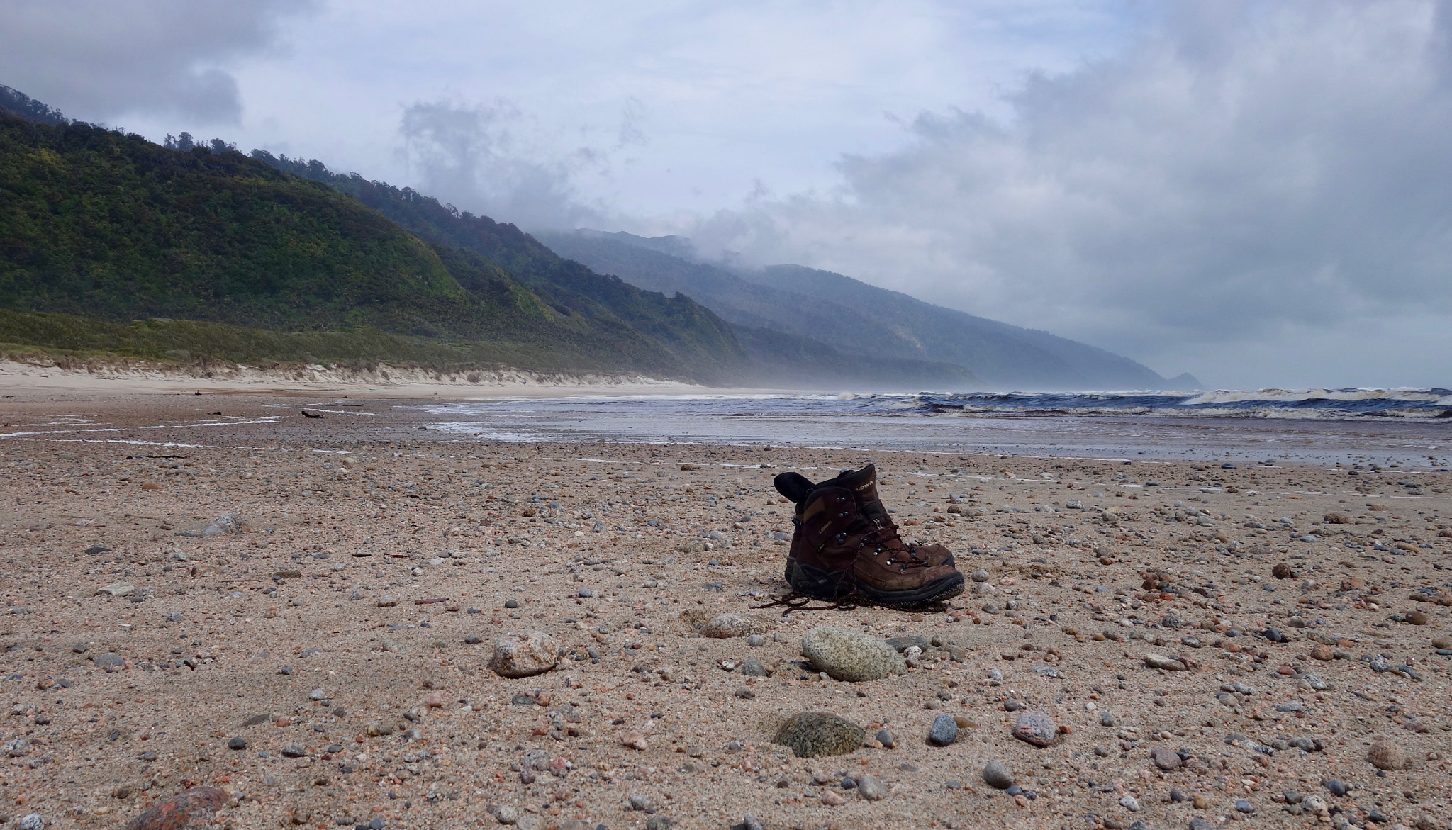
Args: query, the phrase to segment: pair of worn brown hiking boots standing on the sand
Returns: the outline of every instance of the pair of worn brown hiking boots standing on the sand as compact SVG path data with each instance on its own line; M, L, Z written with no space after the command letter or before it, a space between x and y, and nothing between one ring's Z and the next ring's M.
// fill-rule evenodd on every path
M813 483L781 473L777 492L797 505L786 579L803 596L919 607L963 593L963 575L941 544L905 544L877 498L877 469L842 470Z

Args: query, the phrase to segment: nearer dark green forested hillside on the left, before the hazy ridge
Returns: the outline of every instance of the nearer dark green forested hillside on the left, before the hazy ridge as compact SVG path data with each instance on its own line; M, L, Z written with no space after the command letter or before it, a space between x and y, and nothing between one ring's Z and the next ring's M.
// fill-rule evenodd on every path
M457 218L473 231L468 247L437 232L420 238L357 193L213 144L224 149L179 151L93 125L0 115L0 308L113 324L367 328L466 344L486 363L534 356L526 369L720 382L745 363L729 326L687 297L592 274L485 218ZM412 192L369 190L386 190L375 202L399 213L408 203L424 216L447 213ZM491 232L502 239L492 247ZM529 266L527 276L510 266ZM350 348L367 340L333 338Z

